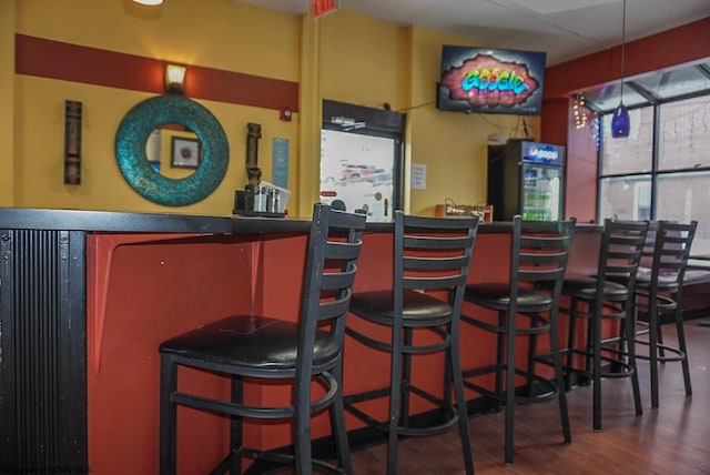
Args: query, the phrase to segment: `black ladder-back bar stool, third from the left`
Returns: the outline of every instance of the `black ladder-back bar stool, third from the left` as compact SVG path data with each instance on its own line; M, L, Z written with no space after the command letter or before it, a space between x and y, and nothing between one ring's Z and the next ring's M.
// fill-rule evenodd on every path
M514 417L516 403L559 400L562 435L571 442L567 401L557 341L557 307L567 266L575 220L542 222L513 220L509 282L477 283L466 287L465 302L494 311L497 317L473 316L468 305L462 322L496 335L496 361L491 365L466 368L464 385L494 400L496 408L505 404L505 462L514 463ZM545 286L541 289L540 286ZM537 337L550 336L555 378L550 381L536 371ZM516 366L516 337L529 337L528 365ZM475 381L495 374L495 387ZM504 378L505 374L505 378ZM516 375L526 387L516 391Z

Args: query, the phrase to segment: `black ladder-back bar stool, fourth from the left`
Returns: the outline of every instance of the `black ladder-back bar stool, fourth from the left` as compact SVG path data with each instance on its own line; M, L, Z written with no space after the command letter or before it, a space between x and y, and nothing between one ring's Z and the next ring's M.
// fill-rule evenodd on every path
M567 360L567 390L572 374L591 381L592 425L601 431L601 378L630 377L633 405L641 415L641 397L633 345L623 347L625 335L633 333L631 311L633 285L642 255L648 223L606 220L599 245L599 263L595 276L568 276L562 285L562 295L569 297L569 307L560 307L560 313L569 316L567 347L562 350ZM627 282L619 283L619 276ZM587 321L586 343L578 341L578 319ZM605 321L617 333L602 337ZM581 355L584 367L578 363Z

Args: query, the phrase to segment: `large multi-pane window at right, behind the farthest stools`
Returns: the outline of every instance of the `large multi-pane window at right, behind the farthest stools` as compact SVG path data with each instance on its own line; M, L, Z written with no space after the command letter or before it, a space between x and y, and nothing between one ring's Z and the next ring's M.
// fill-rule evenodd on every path
M628 138L611 138L611 110L597 110L599 221L697 220L692 252L710 253L710 68L691 64L629 82L646 101L629 111ZM626 88L623 97L626 103ZM618 104L618 97L599 99Z

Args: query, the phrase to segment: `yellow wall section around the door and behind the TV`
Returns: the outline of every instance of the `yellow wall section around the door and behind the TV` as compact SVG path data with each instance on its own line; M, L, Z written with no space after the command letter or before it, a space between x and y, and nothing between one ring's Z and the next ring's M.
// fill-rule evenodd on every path
M405 176L412 163L425 164L427 182L425 190L407 183L406 211L433 215L447 198L485 203L488 135L523 137L519 118L436 109L442 46L477 43L342 10L321 21L322 97L371 108L388 102L407 114ZM539 121L528 122L537 132Z

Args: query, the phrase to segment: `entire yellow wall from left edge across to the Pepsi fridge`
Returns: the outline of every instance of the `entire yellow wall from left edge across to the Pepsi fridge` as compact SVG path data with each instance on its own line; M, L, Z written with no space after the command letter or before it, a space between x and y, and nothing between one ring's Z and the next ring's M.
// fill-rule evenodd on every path
M14 13L14 14L13 14ZM200 101L222 124L230 146L226 176L200 203L152 203L123 180L114 156L123 115L148 93L13 75L14 33L300 82L301 111L292 122L278 111ZM435 84L444 43L467 40L339 10L317 21L234 0L170 0L149 8L131 0L13 0L0 4L0 205L230 215L245 183L246 124L262 124L258 163L271 180L272 141L290 141L292 215L310 215L317 200L320 103L329 99L407 114L407 163L427 165L427 189L405 195L407 210L433 214L450 198L485 201L486 140L516 137L509 115L440 112ZM59 59L61 60L61 59ZM190 71L187 71L187 75ZM187 77L190 80L190 77ZM64 185L64 100L83 103L82 184ZM530 121L537 132L537 121ZM14 131L13 131L14 130ZM14 153L13 153L14 152ZM13 179L8 183L8 176ZM408 172L405 174L408 179ZM4 183L4 184L3 184Z

